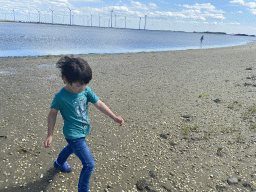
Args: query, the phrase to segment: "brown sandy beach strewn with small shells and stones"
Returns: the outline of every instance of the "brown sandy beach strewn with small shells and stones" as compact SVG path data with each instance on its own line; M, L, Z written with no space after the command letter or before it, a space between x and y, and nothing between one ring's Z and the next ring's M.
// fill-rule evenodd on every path
M86 142L91 192L256 190L256 44L173 52L79 55L89 86L125 124L92 104ZM58 115L46 149L47 115L64 86L60 56L0 58L0 192L77 192L81 171L53 161L66 145Z

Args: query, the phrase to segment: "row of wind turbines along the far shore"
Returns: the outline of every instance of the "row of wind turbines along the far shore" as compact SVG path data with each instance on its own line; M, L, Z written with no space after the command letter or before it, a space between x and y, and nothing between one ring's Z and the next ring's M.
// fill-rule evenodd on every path
M67 7L67 8L70 11L70 25L72 25L72 16L74 16L74 15L72 15L72 10L69 7ZM53 12L54 12L54 10L52 10L51 8L49 8L49 9L52 12L52 24L54 24L54 22L53 22ZM40 20L41 11L38 10L38 9L36 9L36 10L38 12L38 22L41 23L41 20ZM112 9L110 12L111 12L111 19L110 19L111 26L110 27L112 28L113 27L113 12L114 12L114 9ZM144 30L145 30L146 29L146 24L147 24L147 15L146 14L144 14L144 15L145 15L145 25L144 25ZM140 17L140 19L139 19L139 29L141 29L141 18L142 17ZM13 9L13 20L16 21L15 20L15 11L14 11L14 9ZM29 20L30 20L30 12L29 12ZM87 19L87 21L89 21L89 19ZM63 22L64 22L64 18L63 18ZM92 26L92 14L91 14L91 26ZM100 27L100 16L99 16L99 27ZM116 15L115 15L115 28L116 28ZM125 16L125 27L124 28L126 28L126 16Z

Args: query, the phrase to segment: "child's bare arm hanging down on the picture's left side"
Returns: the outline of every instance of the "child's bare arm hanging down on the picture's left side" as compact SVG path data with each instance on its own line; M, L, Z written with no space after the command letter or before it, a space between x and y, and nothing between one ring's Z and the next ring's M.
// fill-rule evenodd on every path
M46 148L51 147L53 130L56 123L58 111L56 109L51 109L48 115L48 134L47 138L44 140L44 146Z

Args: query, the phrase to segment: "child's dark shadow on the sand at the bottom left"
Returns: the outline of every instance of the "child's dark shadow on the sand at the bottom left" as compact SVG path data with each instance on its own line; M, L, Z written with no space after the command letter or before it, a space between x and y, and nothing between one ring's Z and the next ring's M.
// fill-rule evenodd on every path
M47 171L47 175L44 175L42 179L39 179L35 182L28 183L23 187L8 187L7 189L0 189L0 192L40 192L46 191L46 189L51 184L51 181L55 175L59 173L59 170L56 170L54 167Z

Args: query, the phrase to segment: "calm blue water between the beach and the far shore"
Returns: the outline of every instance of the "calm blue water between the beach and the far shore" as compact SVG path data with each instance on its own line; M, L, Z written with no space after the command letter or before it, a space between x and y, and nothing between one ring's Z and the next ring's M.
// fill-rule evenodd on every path
M0 22L0 57L127 53L242 45L255 37Z

